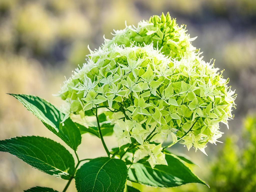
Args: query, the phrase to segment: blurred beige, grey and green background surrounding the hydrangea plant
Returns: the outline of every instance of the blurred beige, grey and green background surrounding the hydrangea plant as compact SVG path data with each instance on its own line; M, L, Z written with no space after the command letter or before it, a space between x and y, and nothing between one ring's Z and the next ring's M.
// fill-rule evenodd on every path
M170 12L179 25L186 24L193 42L206 61L225 69L236 89L237 109L229 130L217 146L209 144L208 156L177 144L199 166L191 167L209 185L187 184L173 189L144 187L143 191L256 191L256 1L84 1L0 0L0 139L46 136L63 144L22 104L5 93L34 94L60 106L60 85L85 62L90 49L111 38L113 29ZM106 137L109 147L115 146ZM98 138L84 134L78 148L82 158L105 155ZM17 157L0 155L0 191L23 191L32 186L62 191L66 180L42 173ZM74 181L68 191L76 191Z

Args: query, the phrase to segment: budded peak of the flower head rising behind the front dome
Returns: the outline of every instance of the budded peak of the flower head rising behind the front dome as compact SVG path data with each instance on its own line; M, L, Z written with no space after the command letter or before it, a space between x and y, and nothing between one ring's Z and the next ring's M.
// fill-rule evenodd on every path
M109 43L130 46L131 43L151 44L155 48L161 48L161 52L170 57L190 57L195 47L191 45L189 34L186 34L184 25L178 26L176 19L172 19L167 13L161 17L152 16L148 21L141 21L138 26L126 26L123 30L115 31L114 38Z

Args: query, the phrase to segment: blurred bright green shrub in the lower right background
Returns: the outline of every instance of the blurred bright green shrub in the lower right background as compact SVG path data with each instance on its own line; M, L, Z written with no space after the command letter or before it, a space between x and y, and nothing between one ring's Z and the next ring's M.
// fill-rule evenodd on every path
M211 191L251 192L256 190L256 115L244 121L243 142L236 137L226 139L223 150L211 167ZM238 145L243 144L242 147Z

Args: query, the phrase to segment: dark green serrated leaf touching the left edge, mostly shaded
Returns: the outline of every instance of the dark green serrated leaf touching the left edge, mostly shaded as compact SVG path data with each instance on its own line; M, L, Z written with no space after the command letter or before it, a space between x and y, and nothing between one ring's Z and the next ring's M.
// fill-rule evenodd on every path
M0 151L13 154L34 168L62 179L70 179L75 171L74 159L69 151L48 138L10 138L0 141Z

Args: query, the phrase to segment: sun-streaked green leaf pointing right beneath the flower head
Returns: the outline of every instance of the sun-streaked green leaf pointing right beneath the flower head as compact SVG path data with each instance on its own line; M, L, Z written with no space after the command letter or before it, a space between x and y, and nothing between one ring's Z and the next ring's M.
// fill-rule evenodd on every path
M134 163L128 170L128 179L132 182L153 187L176 187L186 183L207 185L192 173L177 156L166 154L165 159L168 166L156 165L154 169L151 168L148 162L139 161Z

